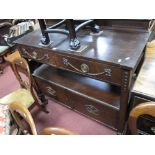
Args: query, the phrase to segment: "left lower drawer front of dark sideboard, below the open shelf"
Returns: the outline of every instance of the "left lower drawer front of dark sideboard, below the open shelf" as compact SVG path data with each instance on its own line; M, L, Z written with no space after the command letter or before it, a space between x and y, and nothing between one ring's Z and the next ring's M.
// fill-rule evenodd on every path
M38 77L34 77L34 78L38 84L39 89L42 91L43 94L51 98L54 98L55 100L63 103L69 108L73 107L67 100L65 89L59 86L56 86L54 84L51 84L45 80L39 79Z

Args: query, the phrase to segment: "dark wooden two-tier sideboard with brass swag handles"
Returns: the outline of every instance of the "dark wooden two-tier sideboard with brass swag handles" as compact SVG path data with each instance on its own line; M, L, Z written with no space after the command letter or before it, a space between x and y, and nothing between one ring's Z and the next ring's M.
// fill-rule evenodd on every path
M150 34L143 29L102 29L99 34L80 31L83 49L77 51L70 50L63 34L49 34L53 42L42 46L40 30L16 44L24 58L43 64L33 76L44 95L123 133L132 79Z

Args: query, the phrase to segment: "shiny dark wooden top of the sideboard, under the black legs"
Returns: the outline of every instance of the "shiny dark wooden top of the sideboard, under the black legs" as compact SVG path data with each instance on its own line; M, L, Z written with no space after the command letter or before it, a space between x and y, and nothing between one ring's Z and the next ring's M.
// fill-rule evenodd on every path
M17 45L44 48L70 56L90 58L134 68L147 43L149 32L144 30L113 29L107 27L102 29L103 32L99 35L94 35L89 31L80 31L77 34L81 45L88 47L81 53L70 51L69 38L66 35L58 33L49 34L50 39L54 42L48 47L43 47L40 44L40 39L42 38L40 30L25 35L18 39L16 43Z

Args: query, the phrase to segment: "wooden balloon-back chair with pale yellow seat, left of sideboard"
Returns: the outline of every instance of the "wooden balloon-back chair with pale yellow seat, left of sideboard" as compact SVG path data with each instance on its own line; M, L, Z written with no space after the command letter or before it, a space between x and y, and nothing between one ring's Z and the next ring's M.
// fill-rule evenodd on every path
M37 93L35 93L32 83L33 79L27 61L24 58L19 57L14 59L12 66L16 79L19 81L20 88L2 97L0 99L0 104L9 105L12 102L18 101L27 108L37 105L45 110L44 106L41 106L40 104Z

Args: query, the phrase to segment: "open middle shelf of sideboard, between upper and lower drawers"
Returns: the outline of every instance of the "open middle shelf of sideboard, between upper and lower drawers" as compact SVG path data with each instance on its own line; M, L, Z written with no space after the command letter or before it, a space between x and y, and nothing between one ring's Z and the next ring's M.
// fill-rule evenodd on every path
M120 87L91 79L76 73L53 68L43 64L33 75L49 83L58 85L82 96L88 96L101 104L118 109L120 106Z

